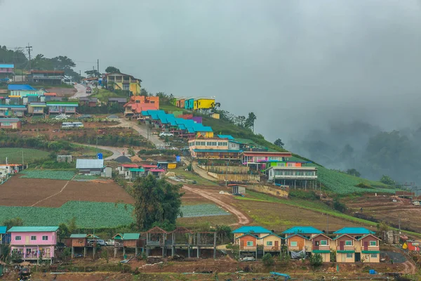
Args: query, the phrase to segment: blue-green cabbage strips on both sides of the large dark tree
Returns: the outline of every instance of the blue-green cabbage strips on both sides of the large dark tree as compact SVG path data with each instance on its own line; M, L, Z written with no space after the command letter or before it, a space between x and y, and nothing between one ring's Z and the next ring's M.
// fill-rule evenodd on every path
M229 215L215 204L182 206L183 217ZM110 202L69 201L59 208L0 206L0 221L22 218L24 226L58 226L76 217L81 228L116 228L133 223L133 206Z

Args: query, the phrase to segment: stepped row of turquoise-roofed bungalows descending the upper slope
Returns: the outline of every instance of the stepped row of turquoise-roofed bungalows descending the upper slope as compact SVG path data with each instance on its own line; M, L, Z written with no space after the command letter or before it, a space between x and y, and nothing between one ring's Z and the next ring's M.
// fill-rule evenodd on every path
M210 126L203 126L201 123L196 123L194 119L175 117L173 114L168 114L163 110L142 111L140 119L147 124L152 124L157 128L170 131L175 136L213 138L213 130Z

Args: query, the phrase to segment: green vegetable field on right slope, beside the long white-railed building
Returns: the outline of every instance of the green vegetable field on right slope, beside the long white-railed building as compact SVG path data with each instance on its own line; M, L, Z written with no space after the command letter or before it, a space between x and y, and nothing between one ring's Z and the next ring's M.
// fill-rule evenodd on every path
M326 188L342 195L354 192L394 192L394 189L390 188L389 185L377 181L369 181L366 178L342 174L338 171L326 169L321 166L317 167L317 174L319 176L319 181L321 181ZM358 185L359 183L370 185L372 188L356 187L355 185Z

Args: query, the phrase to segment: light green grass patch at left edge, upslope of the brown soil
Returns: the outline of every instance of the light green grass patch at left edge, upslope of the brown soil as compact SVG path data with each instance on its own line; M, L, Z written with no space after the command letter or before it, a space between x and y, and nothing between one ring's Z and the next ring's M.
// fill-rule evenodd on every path
M25 163L46 159L49 155L47 151L32 148L0 148L0 164L6 163L6 157L9 164L22 164L22 152Z

